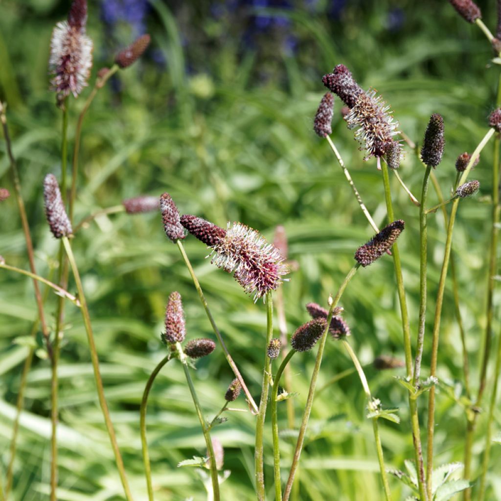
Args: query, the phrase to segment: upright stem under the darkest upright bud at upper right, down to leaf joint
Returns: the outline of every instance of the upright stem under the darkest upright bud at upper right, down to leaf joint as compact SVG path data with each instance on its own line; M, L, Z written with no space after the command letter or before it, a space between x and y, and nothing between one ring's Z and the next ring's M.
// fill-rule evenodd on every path
M424 173L423 188L421 191L421 205L419 207L419 323L417 331L416 358L414 360L414 376L412 384L417 386L421 374L421 360L423 357L424 328L426 322L426 269L428 265L428 219L426 217L426 196L428 194L428 180L431 165L426 166Z

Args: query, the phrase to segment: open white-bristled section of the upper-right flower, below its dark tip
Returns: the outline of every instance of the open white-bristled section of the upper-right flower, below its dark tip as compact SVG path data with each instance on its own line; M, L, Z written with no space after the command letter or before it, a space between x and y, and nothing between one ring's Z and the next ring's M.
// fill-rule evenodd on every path
M367 151L366 160L383 156L398 134L398 122L393 121L390 107L374 89L358 96L345 120L349 129L357 129L355 139Z

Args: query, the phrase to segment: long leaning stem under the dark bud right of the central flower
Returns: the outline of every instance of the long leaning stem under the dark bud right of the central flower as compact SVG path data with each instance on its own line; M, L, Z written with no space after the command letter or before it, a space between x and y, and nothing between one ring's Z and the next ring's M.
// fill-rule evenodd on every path
M332 300L331 307L329 308L329 314L327 315L327 327L325 328L324 334L322 335L322 338L320 339L320 345L318 347L317 358L315 359L315 366L313 368L312 379L310 382L310 390L308 392L308 398L306 399L306 406L305 406L305 410L303 412L303 419L301 421L301 427L299 429L299 436L298 436L298 441L296 443L296 449L294 451L294 458L293 458L293 461L291 464L291 471L289 472L289 478L287 479L287 484L285 486L283 501L288 501L289 496L291 495L291 489L292 489L292 485L294 483L294 476L296 475L296 471L297 471L298 466L299 466L299 458L301 456L301 451L303 450L303 444L305 442L306 428L308 426L308 420L310 419L310 414L311 414L312 405L313 405L313 397L315 396L315 388L317 386L318 373L320 370L320 365L322 364L322 356L324 354L325 343L327 340L327 335L329 333L329 326L331 325L332 314L333 314L334 308L336 308L336 306L338 305L339 300L340 300L341 296L343 295L343 292L345 291L347 285L350 283L350 280L354 277L355 273L357 273L357 270L359 269L359 267L360 267L360 265L357 263L348 272L348 275L345 277L343 283L339 287L339 290L336 294L336 297Z

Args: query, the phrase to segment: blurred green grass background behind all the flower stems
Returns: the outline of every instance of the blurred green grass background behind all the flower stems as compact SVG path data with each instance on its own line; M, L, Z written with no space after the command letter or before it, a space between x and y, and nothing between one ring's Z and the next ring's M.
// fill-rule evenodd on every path
M234 8L234 4L236 7ZM392 2L262 3L152 2L145 23L152 47L134 67L120 72L102 90L86 118L81 149L76 220L138 194L168 191L183 213L224 225L239 220L273 239L278 224L286 227L289 258L298 263L283 286L289 332L308 319L304 304L325 304L353 264L358 245L372 230L353 199L327 143L312 130L312 118L324 92L321 76L346 64L364 87L373 86L391 104L402 130L420 141L428 117L445 121L446 148L436 175L444 193L455 178L454 161L471 152L486 131L495 99L498 69L476 27L459 18L441 0ZM478 2L483 19L495 28L495 2ZM278 6L278 7L277 7ZM69 2L4 0L0 5L0 97L9 103L14 152L21 169L23 194L36 246L38 271L47 276L55 265L58 244L45 222L42 180L60 176L61 116L48 92L47 61L53 25L67 15ZM94 40L94 81L114 51L135 35L125 22L100 20L99 2L89 2L88 31ZM273 21L258 29L257 15ZM396 17L395 17L396 16ZM396 19L396 21L395 21ZM70 148L75 121L89 90L70 103ZM385 223L380 172L346 129L336 101L332 138L349 166L366 205L379 225ZM5 143L0 141L0 185L11 188ZM486 248L491 147L472 177L480 194L461 202L455 226L454 255L462 314L476 385L485 325ZM407 153L401 175L415 194L421 165ZM394 182L395 179L392 179ZM399 239L411 328L417 332L419 259L418 210L394 184L396 216L406 221ZM430 188L430 205L436 202ZM0 208L0 254L8 263L28 268L25 243L13 197ZM423 375L431 348L432 312L444 246L440 212L429 218L429 314ZM165 238L158 214L118 214L98 218L74 239L74 250L87 293L102 364L106 395L118 441L137 499L146 498L140 454L139 403L146 379L164 356L159 342L164 306L177 290L184 301L188 338L212 337L177 249ZM234 359L256 396L265 339L266 312L253 304L232 278L204 260L204 246L186 239L216 322ZM75 286L70 284L70 290ZM342 304L352 329L350 342L362 363L380 354L403 358L401 325L393 265L381 259L361 270ZM499 295L494 332L497 333ZM54 326L56 298L48 295ZM60 367L60 499L119 499L121 486L98 407L80 312L66 308ZM5 473L20 373L28 348L16 343L28 336L37 317L32 283L0 273L0 469ZM297 424L306 400L314 363L311 353L292 362ZM459 333L447 284L441 329L438 375L461 393ZM341 345L329 342L320 385L351 367ZM489 371L490 374L490 371ZM400 407L402 422L382 423L388 465L402 467L413 457L405 390L393 375L367 368L371 390L388 407ZM207 416L223 403L232 379L222 351L197 362L195 385ZM328 386L315 401L300 474L297 499L373 500L382 492L371 424L356 374ZM425 400L420 400L421 423ZM244 408L243 399L235 402ZM285 404L279 406L286 429ZM253 499L254 420L245 413L228 415L215 429L225 449L231 475L222 485L223 499ZM499 429L501 414L495 413ZM444 391L437 398L435 464L462 460L463 410ZM194 469L177 469L178 461L203 454L203 437L182 370L170 362L150 396L148 436L158 500L204 499ZM46 499L50 466L50 366L37 358L29 376L15 468L15 499ZM479 419L474 451L478 465L483 448L484 416ZM272 489L271 425L267 424L266 466ZM283 472L291 461L294 437L284 433ZM289 434L290 435L290 434ZM499 446L492 449L488 499L501 499L496 474ZM395 499L407 490L390 479ZM270 497L272 497L270 491ZM456 496L458 497L458 496Z

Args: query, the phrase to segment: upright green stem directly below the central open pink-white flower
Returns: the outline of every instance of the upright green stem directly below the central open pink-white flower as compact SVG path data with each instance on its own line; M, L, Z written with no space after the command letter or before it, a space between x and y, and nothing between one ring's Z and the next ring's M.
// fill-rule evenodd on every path
M265 470L263 435L265 432L266 408L268 406L268 393L270 391L270 376L272 361L268 356L268 345L273 338L273 299L272 293L266 293L266 345L265 366L263 368L263 384L261 388L261 400L259 402L258 419L256 420L256 449L254 452L256 492L259 501L265 501Z

